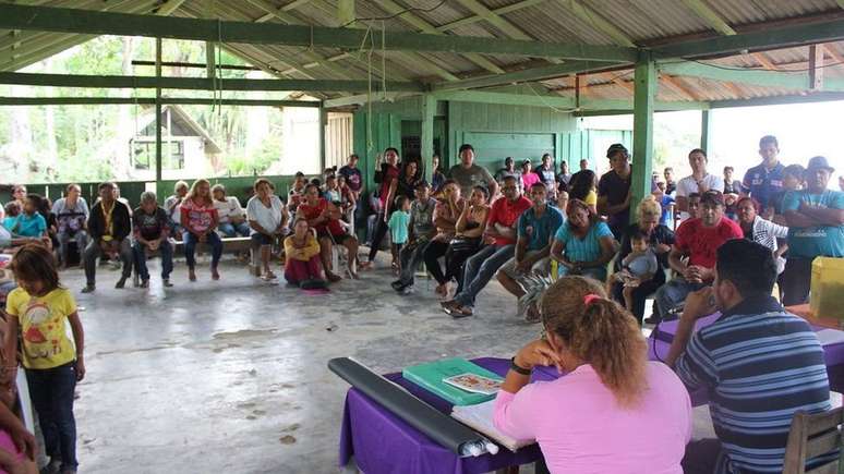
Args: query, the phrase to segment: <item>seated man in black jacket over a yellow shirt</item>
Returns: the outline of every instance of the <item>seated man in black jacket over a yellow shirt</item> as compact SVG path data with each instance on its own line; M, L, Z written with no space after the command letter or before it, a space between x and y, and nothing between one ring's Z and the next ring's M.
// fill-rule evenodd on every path
M118 255L123 263L123 272L114 288L123 288L132 275L132 245L129 233L132 222L129 207L114 198L114 183L106 182L99 185L99 200L91 209L88 232L91 240L82 256L85 265L85 288L83 293L91 293L96 288L97 258L105 256L113 259Z

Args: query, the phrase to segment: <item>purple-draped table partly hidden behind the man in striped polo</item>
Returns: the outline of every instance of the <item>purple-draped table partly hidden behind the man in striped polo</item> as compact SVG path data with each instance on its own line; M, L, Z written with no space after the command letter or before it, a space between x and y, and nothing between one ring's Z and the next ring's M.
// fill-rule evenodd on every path
M695 324L695 330L702 327L707 327L718 320L721 317L721 313L702 317ZM660 323L651 332L651 337L648 338L648 357L651 361L663 361L668 356L668 349L671 342L674 340L674 335L677 332L677 325L679 320L671 320ZM811 328L817 331L834 331L844 336L844 332L837 329L829 329L823 326L817 326L809 324ZM831 332L834 336L834 333ZM844 390L844 337L843 338L830 338L831 340L824 342L821 339L823 345L823 358L827 363L827 374L830 378L830 388L835 391ZM703 391L691 393L692 405L701 405L707 403L707 394Z

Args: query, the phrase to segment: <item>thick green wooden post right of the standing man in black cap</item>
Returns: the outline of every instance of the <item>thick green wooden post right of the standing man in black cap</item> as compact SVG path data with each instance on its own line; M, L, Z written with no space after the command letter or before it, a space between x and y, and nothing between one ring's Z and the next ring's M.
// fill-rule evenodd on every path
M634 83L634 156L630 208L636 208L651 193L653 169L653 111L656 96L656 66L650 54L643 52L636 63ZM630 212L636 220L636 212Z

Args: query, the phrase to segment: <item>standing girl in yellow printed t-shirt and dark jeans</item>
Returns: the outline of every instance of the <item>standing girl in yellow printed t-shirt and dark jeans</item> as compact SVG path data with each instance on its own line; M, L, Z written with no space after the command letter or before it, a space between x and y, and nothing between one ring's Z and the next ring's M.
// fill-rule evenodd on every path
M26 245L12 260L19 288L9 293L5 354L17 366L17 338L26 381L44 434L47 472L76 472L76 421L73 391L85 376L84 335L71 292L59 284L52 254ZM73 340L67 336L70 323Z

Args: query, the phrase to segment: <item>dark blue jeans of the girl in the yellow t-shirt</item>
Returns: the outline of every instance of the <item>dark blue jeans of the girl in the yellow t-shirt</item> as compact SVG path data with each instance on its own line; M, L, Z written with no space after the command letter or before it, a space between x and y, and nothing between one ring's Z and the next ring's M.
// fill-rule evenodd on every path
M26 369L29 397L38 413L47 455L61 460L61 469L76 469L76 420L73 390L76 365L70 362L53 368Z

